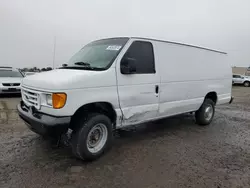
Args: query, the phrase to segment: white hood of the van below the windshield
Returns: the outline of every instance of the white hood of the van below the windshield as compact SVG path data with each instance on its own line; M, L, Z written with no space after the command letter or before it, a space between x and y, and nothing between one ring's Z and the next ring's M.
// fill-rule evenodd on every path
M22 81L24 87L45 91L103 87L115 84L114 68L106 71L56 69L27 76Z

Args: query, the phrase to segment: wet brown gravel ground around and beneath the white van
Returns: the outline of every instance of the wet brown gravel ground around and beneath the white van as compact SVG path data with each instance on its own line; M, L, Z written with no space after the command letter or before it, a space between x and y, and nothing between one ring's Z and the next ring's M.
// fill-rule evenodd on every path
M29 131L20 98L0 98L0 187L250 187L250 88L233 94L208 127L182 115L120 131L92 163Z

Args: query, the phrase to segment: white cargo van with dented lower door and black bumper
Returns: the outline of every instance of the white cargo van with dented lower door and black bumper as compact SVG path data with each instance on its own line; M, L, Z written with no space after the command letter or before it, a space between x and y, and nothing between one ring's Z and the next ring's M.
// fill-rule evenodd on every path
M63 67L23 79L20 117L34 132L72 132L76 157L93 160L111 146L113 130L195 112L211 123L215 106L231 103L227 55L146 38L110 38L84 46Z

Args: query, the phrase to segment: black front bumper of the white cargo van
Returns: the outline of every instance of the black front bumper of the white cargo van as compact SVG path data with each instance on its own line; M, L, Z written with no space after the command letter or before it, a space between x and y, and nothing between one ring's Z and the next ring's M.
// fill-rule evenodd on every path
M55 117L37 112L34 107L27 107L23 101L17 105L21 119L35 133L55 136L67 132L71 117Z

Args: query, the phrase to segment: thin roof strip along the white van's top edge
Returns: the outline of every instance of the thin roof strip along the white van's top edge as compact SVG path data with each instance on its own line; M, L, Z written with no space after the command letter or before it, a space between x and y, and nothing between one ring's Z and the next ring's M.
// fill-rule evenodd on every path
M165 41L165 40L158 40L158 39L153 39L153 38L143 38L143 37L114 37L114 38L106 38L106 39L119 39L119 38L142 39L142 40L152 40L152 41L158 41L158 42L166 42L166 43L170 43L170 44L176 44L176 45L181 45L181 46L188 46L188 47L198 48L198 49L212 51L212 52L216 52L216 53L227 54L226 52L222 52L222 51L214 50L214 49L210 49L210 48L204 48L204 47L201 47L201 46L195 46L195 45L191 45L191 44L185 44L185 43L179 43L179 42L172 42L172 41Z

